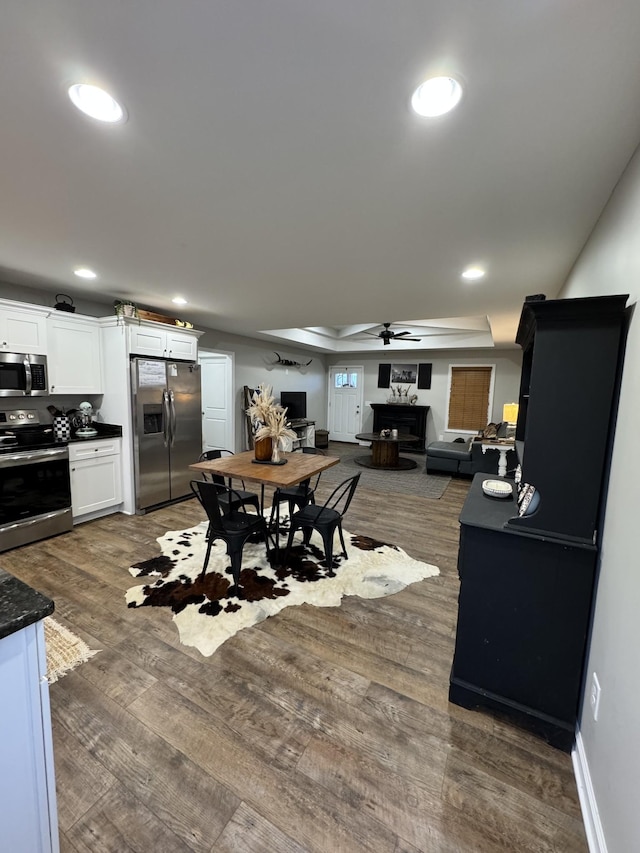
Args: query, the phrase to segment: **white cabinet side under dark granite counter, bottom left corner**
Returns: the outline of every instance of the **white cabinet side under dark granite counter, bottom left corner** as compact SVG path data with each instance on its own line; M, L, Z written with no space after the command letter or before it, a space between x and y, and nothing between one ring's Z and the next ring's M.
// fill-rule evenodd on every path
M0 849L58 853L42 620L0 639Z

